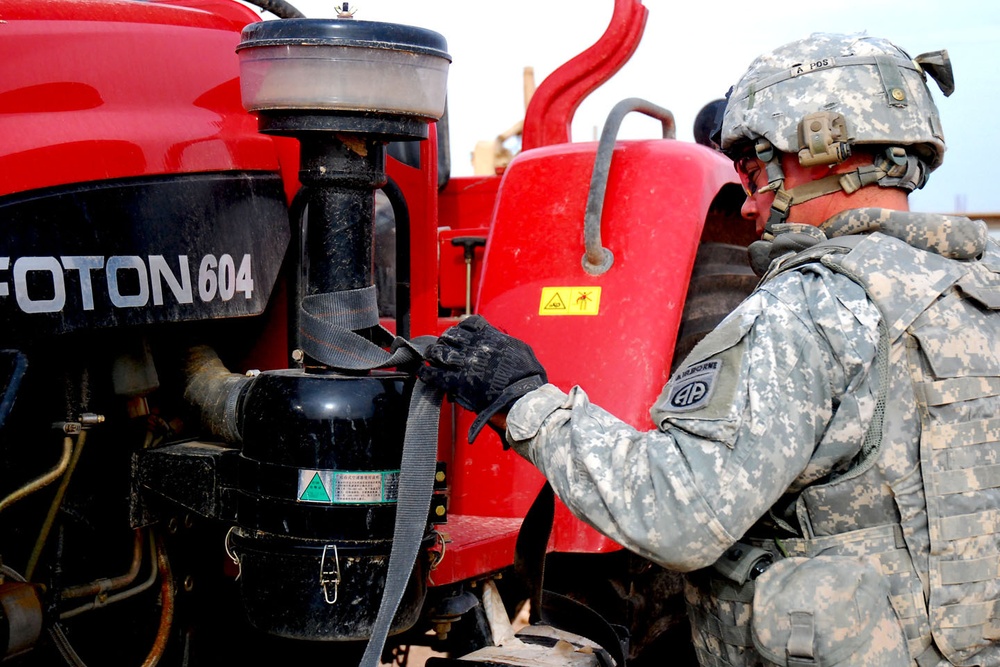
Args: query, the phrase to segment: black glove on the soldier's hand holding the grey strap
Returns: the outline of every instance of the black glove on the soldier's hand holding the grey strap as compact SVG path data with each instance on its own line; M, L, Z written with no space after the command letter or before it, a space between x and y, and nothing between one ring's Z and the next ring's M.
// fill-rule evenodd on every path
M418 369L420 379L477 413L469 428L470 443L490 417L548 381L527 343L502 333L480 315L450 327L425 356L430 365Z

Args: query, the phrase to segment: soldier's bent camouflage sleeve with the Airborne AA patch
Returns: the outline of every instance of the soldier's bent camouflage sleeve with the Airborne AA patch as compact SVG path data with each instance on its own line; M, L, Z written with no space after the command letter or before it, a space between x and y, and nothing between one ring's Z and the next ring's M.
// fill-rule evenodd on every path
M546 385L507 419L562 501L661 565L705 567L800 478L846 465L871 417L878 314L825 267L783 274L692 351L640 431ZM822 470L820 470L822 468Z

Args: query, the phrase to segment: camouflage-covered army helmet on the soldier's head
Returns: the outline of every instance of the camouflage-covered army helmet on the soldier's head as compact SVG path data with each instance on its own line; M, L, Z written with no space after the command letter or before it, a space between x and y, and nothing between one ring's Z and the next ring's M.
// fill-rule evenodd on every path
M916 157L926 176L945 151L928 74L954 90L947 51L912 59L886 39L814 33L753 61L729 93L719 143L734 155L763 138L807 166L880 144Z

